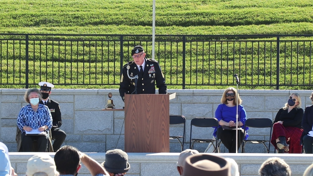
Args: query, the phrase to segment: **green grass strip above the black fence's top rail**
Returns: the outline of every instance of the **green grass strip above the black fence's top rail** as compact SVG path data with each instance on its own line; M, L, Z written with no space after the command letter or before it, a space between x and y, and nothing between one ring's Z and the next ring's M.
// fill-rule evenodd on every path
M0 33L151 34L151 0L1 0ZM311 0L156 0L156 34L312 34Z

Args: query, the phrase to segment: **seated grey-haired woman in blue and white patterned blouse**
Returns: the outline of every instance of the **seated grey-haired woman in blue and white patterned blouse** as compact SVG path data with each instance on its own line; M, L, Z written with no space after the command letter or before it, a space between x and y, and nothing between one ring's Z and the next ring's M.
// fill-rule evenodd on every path
M32 152L33 141L37 140L38 152L46 152L48 145L47 135L25 135L25 131L46 131L52 127L52 116L48 106L39 104L41 93L39 89L28 89L24 99L29 104L23 106L18 114L17 125L22 132L22 151Z

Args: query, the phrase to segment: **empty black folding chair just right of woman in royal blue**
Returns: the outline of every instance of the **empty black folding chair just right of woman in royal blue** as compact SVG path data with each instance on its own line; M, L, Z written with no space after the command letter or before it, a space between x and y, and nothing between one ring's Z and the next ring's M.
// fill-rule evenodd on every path
M264 147L267 150L267 153L269 153L269 148L271 145L271 137L272 137L272 128L273 128L273 122L269 118L249 118L246 120L246 123L244 124L244 129L246 127L249 128L270 128L269 131L269 140L243 140L242 142L242 148L241 148L241 153L245 153L244 147L247 143L251 144L260 144L262 143ZM269 142L269 146L267 147L266 142Z

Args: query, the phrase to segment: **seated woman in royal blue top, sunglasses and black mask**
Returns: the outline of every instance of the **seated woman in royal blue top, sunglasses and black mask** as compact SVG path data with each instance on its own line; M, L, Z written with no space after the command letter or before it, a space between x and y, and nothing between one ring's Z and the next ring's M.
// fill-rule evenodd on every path
M233 87L227 88L221 98L221 103L218 105L215 111L215 118L218 119L218 128L215 128L213 135L216 137L216 132L218 133L218 139L221 139L224 146L228 149L229 153L236 153L238 151L240 144L245 139L247 139L247 130L239 128L238 129L238 148L236 148L236 127L244 127L246 122L246 111L244 107L240 105L242 100L238 95L238 124L236 124L236 114L237 114L237 90ZM222 126L230 127L230 130L223 130Z

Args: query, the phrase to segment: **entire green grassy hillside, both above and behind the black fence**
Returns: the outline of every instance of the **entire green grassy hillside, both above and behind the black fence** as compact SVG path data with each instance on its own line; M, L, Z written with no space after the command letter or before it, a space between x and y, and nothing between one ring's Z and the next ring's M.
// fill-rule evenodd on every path
M152 33L152 0L0 0L0 9L2 12L0 13L0 33L149 35ZM156 0L156 34L312 34L312 22L312 0ZM88 39L95 39L95 37L89 36ZM310 40L310 38L307 39ZM11 83L20 80L23 82L25 80L23 78L24 65L26 65L23 62L25 52L21 52L20 58L23 61L19 62L19 58L17 59L16 56L20 54L20 50L15 47L21 45L21 48L25 48L25 42L15 44L12 41L2 40L1 42L3 44L2 52L0 52L0 69L3 72L0 74L1 78L4 82L10 81ZM29 48L29 55L33 59L28 63L32 74L29 76L30 80L39 82L50 81L54 78L61 84L69 84L58 86L59 88L118 88L118 85L76 86L70 84L73 83L72 81L76 84L84 84L85 80L87 82L90 80L91 84L118 84L119 48L115 53L102 53L100 50L102 44L94 41L89 44L88 42L77 42L77 49L75 46L73 51L69 50L69 42L66 44L47 42L47 51L41 49L41 45L33 43L33 46L31 44ZM93 47L88 48L89 45ZM175 58L173 57L171 60L169 48L161 53L161 55L164 54L164 60L160 61L160 65L168 84L181 84L182 80L182 43L177 45L179 45L177 47L177 68L170 68L170 63L175 62ZM187 56L186 67L189 70L186 70L186 74L190 78L187 81L192 85L186 87L187 89L223 89L224 85L232 84L233 72L242 74L241 80L245 81L247 85L258 84L256 81L265 84L265 81L269 81L269 79L273 79L270 80L271 82L276 81L275 76L269 78L269 75L276 75L276 55L272 53L275 46L269 48L269 45L248 43L247 48L244 48L237 43L232 48L232 46L223 45L220 47L221 54L219 55L214 53L216 49L213 44L205 42L202 45L205 48L202 60L198 58L201 55L198 48L192 46L189 50L187 49L190 56ZM308 82L311 82L311 43L294 43L293 48L289 46L292 45L291 43L287 42L285 45L287 45L285 51L281 48L280 53L281 56L284 55L284 52L287 53L287 60L282 59L280 63L286 63L287 66L281 65L280 79L286 84L297 85L299 77L300 81L308 85ZM110 44L111 49L109 50L114 50L113 47ZM124 55L128 56L127 48L129 46L125 45L124 47ZM202 47L200 44L199 48ZM147 44L147 48L150 50L151 46ZM263 55L260 52L258 57L256 51L259 48L261 50L264 48L264 52L266 52ZM298 50L298 48L300 49ZM229 59L225 53L228 50L234 51L233 61L230 61L232 58ZM207 53L207 51L211 52ZM239 51L246 53L247 57L239 55ZM70 61L73 60L71 52L76 54L73 57L77 61L74 65ZM230 54L232 53L230 52ZM291 62L289 58L302 59L296 59L298 65L295 66L293 64L295 59ZM42 59L45 60L43 64L39 62ZM126 63L127 57L124 59ZM246 66L239 68L236 66L239 64ZM61 68L60 71L53 70L56 65ZM19 68L21 68L20 72ZM230 72L228 72L229 70ZM170 77L172 75L167 73L177 77ZM286 78L285 75L297 76ZM196 80L195 76L198 76L199 80ZM71 78L73 80L70 80ZM217 80L222 80L223 84L209 87L197 86L198 83L215 85ZM0 87L18 88L12 84ZM181 88L181 86L173 85L169 88ZM273 89L273 87L266 86L241 88ZM311 89L311 86L286 86L282 89Z

